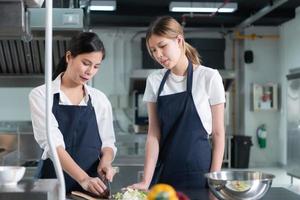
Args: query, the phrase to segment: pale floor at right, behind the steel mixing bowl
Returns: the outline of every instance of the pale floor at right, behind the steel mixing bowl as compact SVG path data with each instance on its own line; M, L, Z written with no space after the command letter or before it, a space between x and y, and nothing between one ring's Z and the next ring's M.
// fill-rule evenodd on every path
M275 175L275 179L272 182L272 187L284 187L300 194L300 179L293 178L293 184L291 184L291 177L286 174L286 171L283 168L251 168L250 170L258 170L273 174Z

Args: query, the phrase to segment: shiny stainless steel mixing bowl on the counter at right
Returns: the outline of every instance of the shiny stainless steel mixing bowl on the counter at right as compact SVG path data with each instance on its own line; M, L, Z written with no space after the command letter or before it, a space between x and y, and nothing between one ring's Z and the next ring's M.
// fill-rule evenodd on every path
M258 171L231 170L205 174L212 193L220 200L257 200L262 198L275 178Z

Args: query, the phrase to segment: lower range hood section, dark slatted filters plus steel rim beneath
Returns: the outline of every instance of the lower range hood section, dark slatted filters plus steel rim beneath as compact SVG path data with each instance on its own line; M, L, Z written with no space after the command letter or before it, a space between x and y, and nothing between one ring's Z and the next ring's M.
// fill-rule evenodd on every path
M53 66L66 51L69 38L53 40ZM0 87L29 87L43 83L45 40L0 41Z

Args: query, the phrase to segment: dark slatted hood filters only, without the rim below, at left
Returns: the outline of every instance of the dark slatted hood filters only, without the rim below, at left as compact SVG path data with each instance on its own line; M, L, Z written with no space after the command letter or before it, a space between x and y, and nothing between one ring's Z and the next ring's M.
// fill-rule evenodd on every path
M64 55L68 39L53 40L53 66ZM0 40L0 75L44 74L45 40Z

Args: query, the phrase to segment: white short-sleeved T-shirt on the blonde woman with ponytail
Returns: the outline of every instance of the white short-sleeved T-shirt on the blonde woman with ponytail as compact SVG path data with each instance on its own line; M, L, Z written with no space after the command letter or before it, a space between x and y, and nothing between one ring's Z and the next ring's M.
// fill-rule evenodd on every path
M160 83L167 69L156 70L147 78L143 100L156 102ZM186 91L186 76L178 76L172 72L166 80L160 94L169 95ZM199 65L193 72L192 95L202 124L208 134L212 132L211 105L225 103L225 91L222 77L218 70Z

